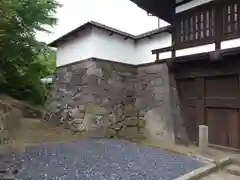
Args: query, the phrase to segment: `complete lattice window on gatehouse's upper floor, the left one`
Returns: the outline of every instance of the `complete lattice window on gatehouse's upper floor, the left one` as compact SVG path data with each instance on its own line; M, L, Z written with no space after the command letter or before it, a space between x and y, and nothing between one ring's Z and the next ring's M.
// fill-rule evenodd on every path
M177 22L177 44L208 40L214 36L213 9L183 14Z

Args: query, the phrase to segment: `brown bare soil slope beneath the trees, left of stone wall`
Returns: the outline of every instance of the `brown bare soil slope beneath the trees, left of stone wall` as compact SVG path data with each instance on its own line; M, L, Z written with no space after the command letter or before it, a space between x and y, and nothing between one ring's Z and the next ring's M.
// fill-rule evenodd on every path
M7 124L10 139L7 144L0 145L0 151L9 150L9 148L24 149L26 146L43 143L69 142L82 138L81 134L44 121L41 118L41 107L5 95L0 95L0 101L1 104L11 107L11 117L9 118L11 123ZM3 113L3 111L1 112Z

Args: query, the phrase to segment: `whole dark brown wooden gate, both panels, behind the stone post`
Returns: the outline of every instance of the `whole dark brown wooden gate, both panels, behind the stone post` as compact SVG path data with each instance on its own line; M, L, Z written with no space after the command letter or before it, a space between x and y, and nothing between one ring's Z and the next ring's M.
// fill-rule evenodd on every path
M198 140L198 126L205 124L210 143L239 149L239 75L185 78L177 85L190 140Z

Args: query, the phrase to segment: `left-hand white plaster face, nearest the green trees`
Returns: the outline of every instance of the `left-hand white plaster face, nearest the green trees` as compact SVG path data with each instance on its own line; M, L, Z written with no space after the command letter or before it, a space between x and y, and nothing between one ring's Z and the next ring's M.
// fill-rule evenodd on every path
M57 47L56 66L63 66L92 57L92 32L86 29Z

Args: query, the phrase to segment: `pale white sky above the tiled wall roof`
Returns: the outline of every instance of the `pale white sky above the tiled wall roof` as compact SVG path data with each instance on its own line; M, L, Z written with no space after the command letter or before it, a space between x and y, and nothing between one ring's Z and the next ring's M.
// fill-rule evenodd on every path
M77 28L87 21L97 21L107 26L138 35L158 27L158 19L148 16L130 0L58 0L62 4L56 17L58 23L51 33L37 33L37 39L47 43ZM161 26L166 26L164 21Z

